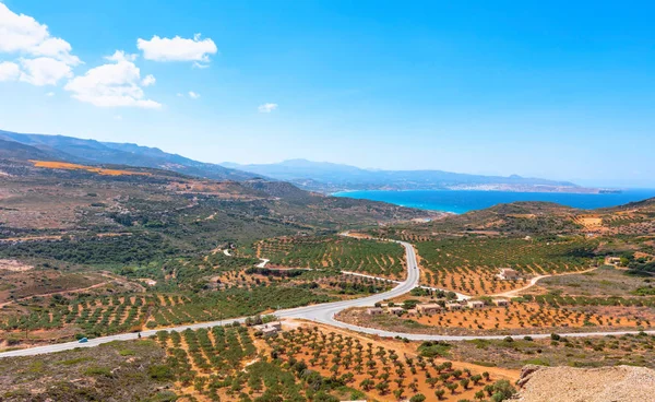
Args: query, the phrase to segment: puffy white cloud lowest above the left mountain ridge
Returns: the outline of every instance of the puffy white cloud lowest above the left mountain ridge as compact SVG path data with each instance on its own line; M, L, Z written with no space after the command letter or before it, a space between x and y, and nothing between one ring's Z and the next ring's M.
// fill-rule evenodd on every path
M160 108L162 104L145 98L140 85L139 68L131 61L120 60L75 76L64 90L72 92L75 99L99 107Z

